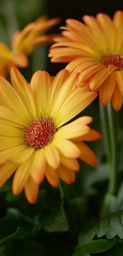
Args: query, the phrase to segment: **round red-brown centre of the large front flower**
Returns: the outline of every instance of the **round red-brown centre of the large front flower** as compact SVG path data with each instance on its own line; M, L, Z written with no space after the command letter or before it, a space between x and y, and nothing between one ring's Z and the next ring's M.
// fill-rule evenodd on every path
M51 118L36 119L24 128L24 145L38 150L48 145L56 132Z

